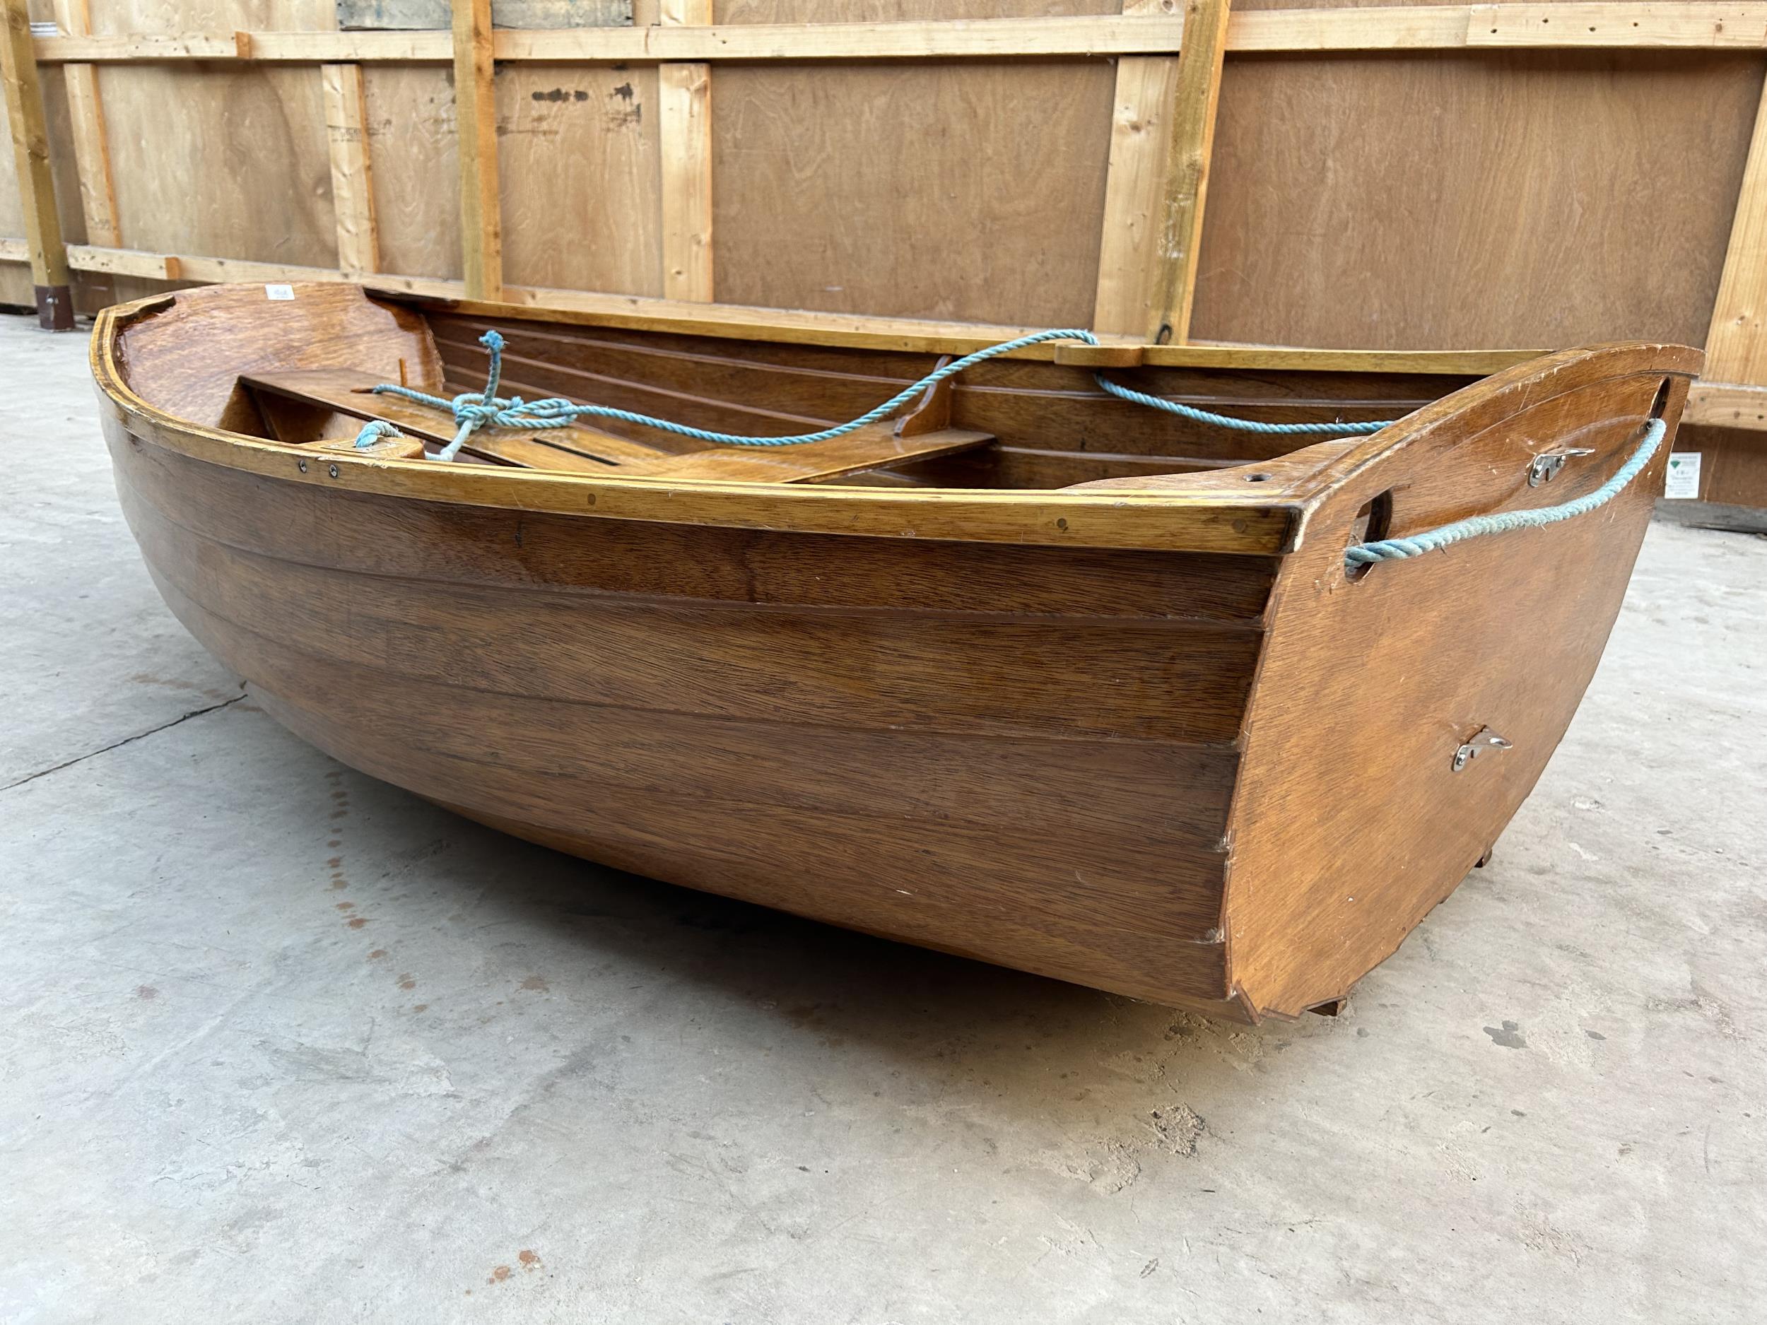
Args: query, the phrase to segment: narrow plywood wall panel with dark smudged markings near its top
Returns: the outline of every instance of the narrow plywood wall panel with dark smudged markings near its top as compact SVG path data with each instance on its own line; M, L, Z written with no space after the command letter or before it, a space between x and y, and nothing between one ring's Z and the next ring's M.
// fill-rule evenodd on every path
M504 64L497 115L504 281L661 295L656 67Z

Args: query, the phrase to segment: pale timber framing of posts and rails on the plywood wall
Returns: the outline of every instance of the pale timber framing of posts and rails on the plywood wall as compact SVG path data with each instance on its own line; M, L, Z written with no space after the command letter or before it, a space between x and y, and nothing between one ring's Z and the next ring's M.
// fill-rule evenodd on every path
M452 0L452 32L217 32L90 35L87 0L55 0L62 35L35 37L25 0L7 16L9 97L35 95L35 64L65 65L76 168L88 244L64 249L44 155L19 152L30 233L0 238L0 261L32 261L39 284L67 269L166 281L345 279L378 267L368 141L360 132L360 65L454 64L461 136L465 281L376 277L385 288L442 297L551 300L758 325L760 314L712 304L710 81L724 60L1119 58L1094 325L1124 341L1187 339L1196 251L1223 55L1255 51L1426 49L1767 49L1767 7L1686 0L1599 4L1380 5L1228 12L1228 0L1126 0L1088 18L938 19L910 23L714 25L709 0L654 0L657 23L557 32L493 30L489 0ZM131 62L281 62L320 67L337 210L337 270L297 269L124 247L110 182L94 65ZM659 65L663 299L504 288L493 60ZM11 104L11 102L9 102ZM30 111L14 125L30 124ZM41 102L35 122L41 125ZM18 132L18 129L14 129ZM1755 125L1709 339L1714 378L1689 398L1689 422L1767 429L1767 106ZM44 281L60 274L60 281ZM956 323L910 318L770 314L776 327L873 327L884 337ZM991 329L968 327L977 334ZM1011 330L1011 329L1007 329ZM1415 359L1415 355L1412 355Z

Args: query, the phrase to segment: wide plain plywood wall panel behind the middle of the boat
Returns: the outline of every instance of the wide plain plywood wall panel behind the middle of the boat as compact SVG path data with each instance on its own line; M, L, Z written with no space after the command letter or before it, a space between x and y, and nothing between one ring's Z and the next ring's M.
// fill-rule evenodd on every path
M1087 325L1113 67L712 71L717 297Z

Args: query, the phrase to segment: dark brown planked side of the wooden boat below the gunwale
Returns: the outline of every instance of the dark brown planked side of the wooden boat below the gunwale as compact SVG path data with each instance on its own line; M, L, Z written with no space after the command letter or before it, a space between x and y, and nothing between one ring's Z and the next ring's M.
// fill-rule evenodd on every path
M120 424L111 452L177 617L355 768L671 883L1237 1009L1210 936L1274 558L412 504Z

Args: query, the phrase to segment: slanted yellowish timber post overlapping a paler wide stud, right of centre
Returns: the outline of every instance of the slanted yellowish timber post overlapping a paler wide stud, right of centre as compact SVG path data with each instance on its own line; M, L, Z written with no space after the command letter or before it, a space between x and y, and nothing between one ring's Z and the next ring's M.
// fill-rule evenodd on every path
M1189 0L1166 138L1164 196L1156 221L1154 307L1147 337L1184 344L1191 337L1196 251L1203 235L1209 157L1214 152L1221 58L1226 53L1230 0Z

